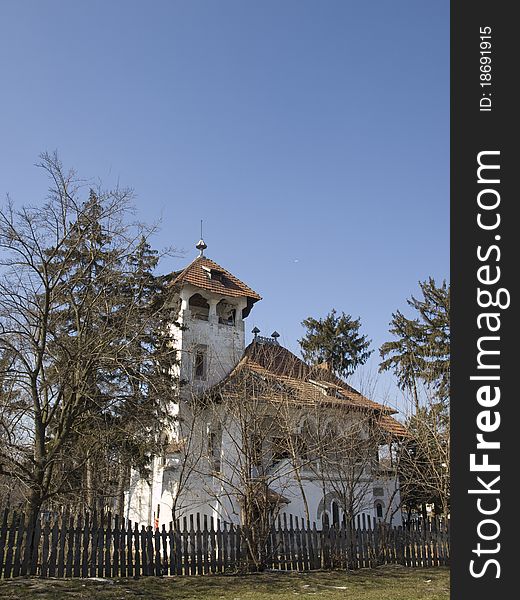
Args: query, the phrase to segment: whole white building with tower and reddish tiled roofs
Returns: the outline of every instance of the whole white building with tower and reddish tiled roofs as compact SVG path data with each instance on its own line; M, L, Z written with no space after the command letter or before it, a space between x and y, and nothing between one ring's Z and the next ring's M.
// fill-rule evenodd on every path
M254 505L318 524L341 521L347 508L358 519L399 524L397 477L377 456L406 435L393 411L305 364L276 332L253 330L246 348L245 319L261 298L204 256L202 240L197 248L172 282L182 325L171 329L181 382L173 423L150 474L131 475L126 518L240 523Z

